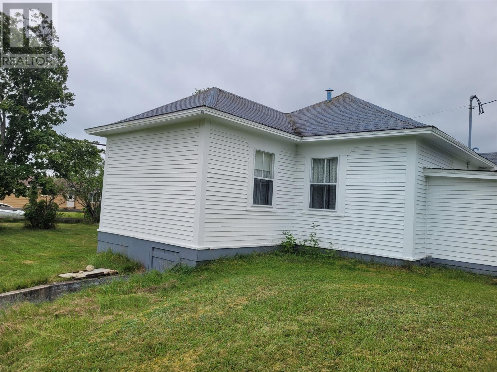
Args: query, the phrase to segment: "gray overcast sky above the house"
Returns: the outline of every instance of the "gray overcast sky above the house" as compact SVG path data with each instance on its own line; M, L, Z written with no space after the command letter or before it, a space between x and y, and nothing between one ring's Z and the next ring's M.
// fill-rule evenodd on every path
M328 87L407 117L497 99L496 1L59 1L58 33L76 94L60 131L92 140L207 86L283 112ZM497 151L484 109L473 146ZM467 144L467 107L416 120Z

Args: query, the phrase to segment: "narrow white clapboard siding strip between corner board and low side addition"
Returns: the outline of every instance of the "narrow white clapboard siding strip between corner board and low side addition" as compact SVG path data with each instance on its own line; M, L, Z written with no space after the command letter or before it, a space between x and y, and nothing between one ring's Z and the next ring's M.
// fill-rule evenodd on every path
M416 257L424 257L425 255L427 181L423 173L424 167L453 169L454 163L451 155L443 150L428 143L417 144L416 229L414 236L414 255Z

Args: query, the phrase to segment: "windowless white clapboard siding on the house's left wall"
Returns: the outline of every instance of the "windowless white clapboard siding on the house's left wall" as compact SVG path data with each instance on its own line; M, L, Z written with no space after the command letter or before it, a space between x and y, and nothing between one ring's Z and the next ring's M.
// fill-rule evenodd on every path
M100 229L191 244L198 147L198 123L109 137Z

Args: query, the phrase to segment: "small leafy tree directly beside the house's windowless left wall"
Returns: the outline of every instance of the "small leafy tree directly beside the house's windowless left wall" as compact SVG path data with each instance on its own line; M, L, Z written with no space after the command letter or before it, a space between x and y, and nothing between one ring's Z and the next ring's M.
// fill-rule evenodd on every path
M55 148L45 147L46 168L65 179L69 192L79 201L92 223L100 220L105 150L86 139L60 136Z

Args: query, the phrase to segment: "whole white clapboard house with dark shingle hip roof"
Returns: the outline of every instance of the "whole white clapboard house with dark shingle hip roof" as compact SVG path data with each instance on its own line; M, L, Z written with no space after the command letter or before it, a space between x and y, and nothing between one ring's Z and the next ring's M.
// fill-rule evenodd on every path
M147 268L316 223L343 254L497 273L497 164L348 93L284 114L211 88L86 133L107 138L98 249Z

